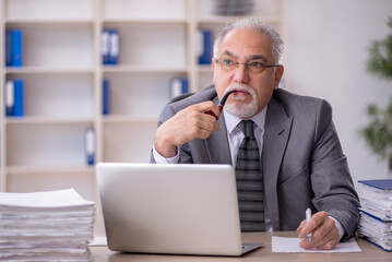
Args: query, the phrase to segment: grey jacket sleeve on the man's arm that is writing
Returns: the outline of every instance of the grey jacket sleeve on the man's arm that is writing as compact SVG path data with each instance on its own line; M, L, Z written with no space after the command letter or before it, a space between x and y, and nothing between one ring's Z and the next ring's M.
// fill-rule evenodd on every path
M342 224L345 235L341 240L344 241L357 228L359 200L332 121L332 108L325 100L319 104L314 128L310 159L312 204Z

